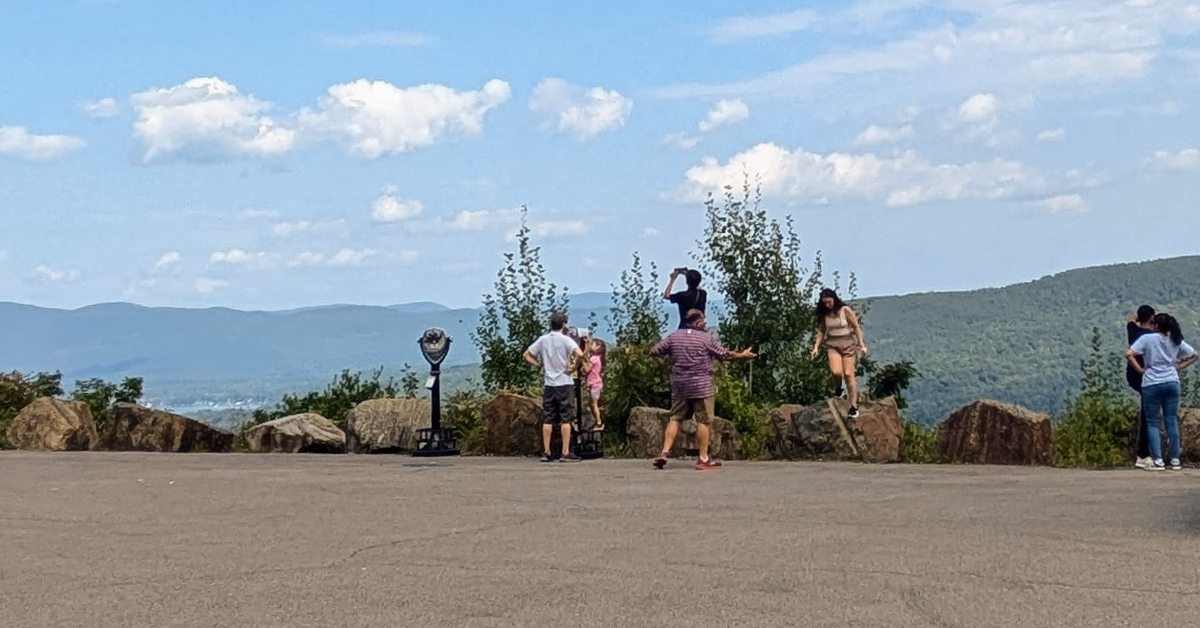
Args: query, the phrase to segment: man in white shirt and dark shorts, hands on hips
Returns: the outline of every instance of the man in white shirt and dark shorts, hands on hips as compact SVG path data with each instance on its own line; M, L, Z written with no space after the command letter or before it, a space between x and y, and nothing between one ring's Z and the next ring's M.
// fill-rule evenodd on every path
M550 317L550 331L529 345L524 359L535 369L541 369L545 388L541 395L541 461L550 462L550 437L554 425L563 433L563 457L559 461L574 462L580 457L571 453L571 414L575 403L575 381L571 378L571 365L581 359L583 352L578 343L566 335L566 315L554 312Z

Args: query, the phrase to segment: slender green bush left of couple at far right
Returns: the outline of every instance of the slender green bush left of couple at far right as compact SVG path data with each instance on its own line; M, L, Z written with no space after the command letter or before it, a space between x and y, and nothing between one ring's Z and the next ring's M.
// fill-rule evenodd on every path
M1099 328L1092 328L1091 351L1080 364L1079 395L1055 429L1055 462L1070 467L1121 466L1128 457L1129 419L1138 408L1122 393L1123 359L1104 349Z

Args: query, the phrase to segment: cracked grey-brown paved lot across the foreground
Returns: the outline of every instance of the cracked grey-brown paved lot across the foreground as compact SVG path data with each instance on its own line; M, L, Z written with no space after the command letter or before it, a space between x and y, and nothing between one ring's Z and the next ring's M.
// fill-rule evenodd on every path
M6 627L1194 626L1200 472L0 454Z

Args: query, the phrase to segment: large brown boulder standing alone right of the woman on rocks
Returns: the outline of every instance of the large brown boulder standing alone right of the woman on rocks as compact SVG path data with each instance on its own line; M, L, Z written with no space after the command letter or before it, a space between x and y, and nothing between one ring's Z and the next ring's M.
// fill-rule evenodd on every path
M1050 465L1050 418L1020 406L976 401L954 411L937 427L937 454L950 462Z

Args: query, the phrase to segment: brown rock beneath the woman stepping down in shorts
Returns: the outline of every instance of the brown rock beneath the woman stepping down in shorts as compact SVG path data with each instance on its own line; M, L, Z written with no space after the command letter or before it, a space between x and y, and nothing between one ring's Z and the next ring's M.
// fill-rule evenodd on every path
M894 399L860 402L857 419L848 413L850 405L841 399L780 406L772 412L767 450L788 460L900 461L904 425Z

